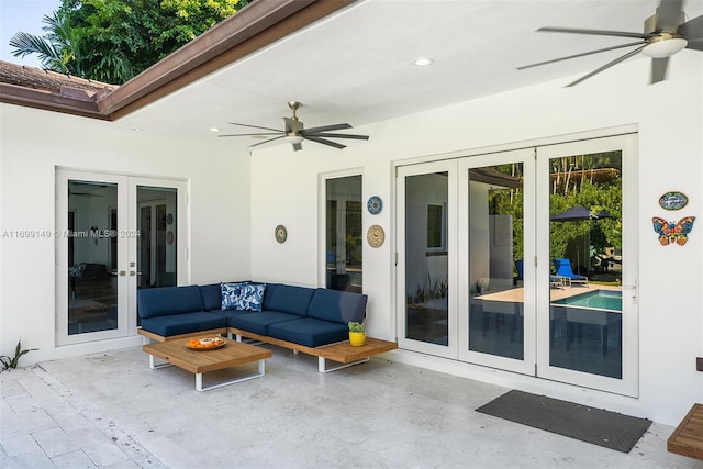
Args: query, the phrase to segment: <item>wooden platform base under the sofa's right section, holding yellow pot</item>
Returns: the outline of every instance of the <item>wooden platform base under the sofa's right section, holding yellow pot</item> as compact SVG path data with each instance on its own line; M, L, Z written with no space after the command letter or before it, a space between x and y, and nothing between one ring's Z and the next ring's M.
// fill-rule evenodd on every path
M230 327L230 333L236 336L237 340L242 340L242 337L248 337L254 340L291 349L295 354L302 351L303 354L313 355L317 357L317 371L321 373L362 364L368 361L373 355L383 354L398 348L398 344L394 342L381 340L380 338L372 337L366 337L366 343L360 347L352 346L349 340L345 340L313 348L294 344L292 342L254 334L235 327ZM326 360L336 361L342 365L327 368Z

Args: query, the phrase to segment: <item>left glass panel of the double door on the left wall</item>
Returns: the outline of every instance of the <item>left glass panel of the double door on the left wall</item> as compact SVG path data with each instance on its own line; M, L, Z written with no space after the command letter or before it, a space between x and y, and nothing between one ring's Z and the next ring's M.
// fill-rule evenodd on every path
M126 334L125 178L57 171L56 331L59 345Z

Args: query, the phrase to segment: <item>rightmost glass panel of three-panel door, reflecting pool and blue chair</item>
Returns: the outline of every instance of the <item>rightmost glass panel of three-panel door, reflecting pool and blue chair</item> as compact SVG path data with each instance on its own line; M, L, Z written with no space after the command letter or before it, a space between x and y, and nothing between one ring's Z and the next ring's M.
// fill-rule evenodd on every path
M636 393L636 223L632 136L544 148L539 375ZM628 197L631 196L631 197ZM548 241L548 243L547 243Z

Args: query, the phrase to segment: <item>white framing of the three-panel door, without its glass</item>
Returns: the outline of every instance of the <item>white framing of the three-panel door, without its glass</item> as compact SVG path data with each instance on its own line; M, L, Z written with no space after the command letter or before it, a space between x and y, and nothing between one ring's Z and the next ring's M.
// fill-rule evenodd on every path
M549 366L549 157L572 156L622 150L622 193L623 193L623 377L607 378L592 373L568 370ZM522 152L529 152L526 156ZM468 242L457 239L468 233L468 169L512 163L524 158L525 164L525 356L524 360L493 357L468 350ZM458 166L453 166L458 165ZM454 169L453 169L454 168ZM531 169L532 168L532 169ZM636 127L622 126L584 132L571 136L544 138L528 144L496 147L480 153L466 152L451 155L437 155L436 159L423 158L419 163L397 164L395 178L395 320L400 348L425 353L467 362L478 364L509 371L537 376L613 392L624 395L638 395L639 360L639 320L638 320L638 206L637 206L637 131ZM405 181L406 176L435 171L449 171L448 194L448 250L449 256L449 347L439 347L405 336ZM529 175L529 177L527 177ZM458 182L453 182L458 181ZM457 187L458 186L458 187ZM458 220L457 220L458 219ZM464 290L461 290L461 288Z

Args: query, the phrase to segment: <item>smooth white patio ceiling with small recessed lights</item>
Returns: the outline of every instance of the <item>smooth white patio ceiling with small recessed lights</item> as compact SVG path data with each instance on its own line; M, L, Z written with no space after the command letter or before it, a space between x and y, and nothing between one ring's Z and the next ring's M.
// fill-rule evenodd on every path
M115 125L157 136L212 139L216 138L216 133L210 132L213 126L221 127L220 133L252 131L227 122L282 129L281 118L290 115L287 102L298 100L303 103L299 118L306 127L341 122L359 126L560 78L565 79L559 86L567 85L568 77L588 72L629 49L522 71L516 67L633 40L535 30L566 26L641 32L658 3L360 0ZM684 10L687 20L703 14L703 0L688 0ZM420 56L434 58L434 65L413 65ZM635 59L648 60L641 56ZM676 72L676 60L677 56L672 57L670 72ZM612 70L579 86L607 87ZM648 79L633 77L637 85ZM253 137L220 141L243 150L260 142Z

